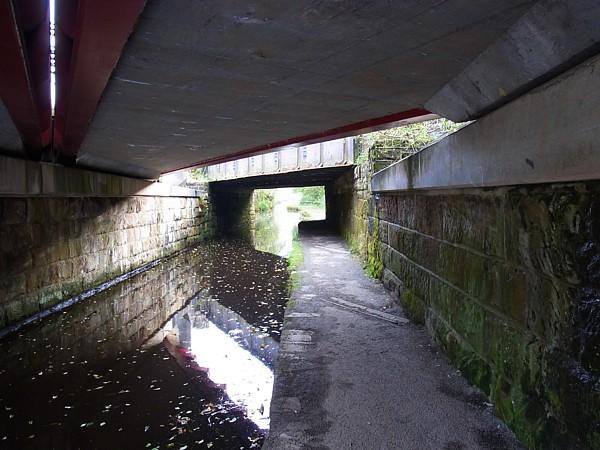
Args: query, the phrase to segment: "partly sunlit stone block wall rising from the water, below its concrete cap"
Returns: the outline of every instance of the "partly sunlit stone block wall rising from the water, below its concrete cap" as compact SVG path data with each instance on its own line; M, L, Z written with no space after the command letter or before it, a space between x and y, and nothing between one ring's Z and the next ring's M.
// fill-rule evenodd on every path
M200 197L0 197L0 327L213 228Z

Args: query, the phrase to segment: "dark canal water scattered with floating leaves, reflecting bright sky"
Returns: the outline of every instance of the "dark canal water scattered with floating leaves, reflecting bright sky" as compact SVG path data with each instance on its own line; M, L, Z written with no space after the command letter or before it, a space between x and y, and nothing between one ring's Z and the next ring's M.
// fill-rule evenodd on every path
M214 242L0 341L0 448L259 448L283 258Z

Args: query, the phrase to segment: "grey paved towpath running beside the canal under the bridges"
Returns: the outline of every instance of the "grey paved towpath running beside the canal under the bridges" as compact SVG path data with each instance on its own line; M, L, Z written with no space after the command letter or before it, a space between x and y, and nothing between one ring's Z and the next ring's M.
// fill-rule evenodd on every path
M264 449L522 448L340 238L301 243Z

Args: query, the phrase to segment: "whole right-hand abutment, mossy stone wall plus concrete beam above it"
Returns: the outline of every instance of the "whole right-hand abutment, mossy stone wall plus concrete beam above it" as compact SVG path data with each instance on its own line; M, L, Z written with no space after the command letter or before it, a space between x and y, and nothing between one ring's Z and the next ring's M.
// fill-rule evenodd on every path
M334 185L347 242L530 448L600 443L599 68L373 175L367 195L360 168Z

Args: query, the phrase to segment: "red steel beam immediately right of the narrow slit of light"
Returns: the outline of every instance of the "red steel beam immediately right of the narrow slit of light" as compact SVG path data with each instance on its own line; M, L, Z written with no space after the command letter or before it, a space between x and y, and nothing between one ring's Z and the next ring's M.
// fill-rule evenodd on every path
M146 0L57 0L54 146L75 157Z

